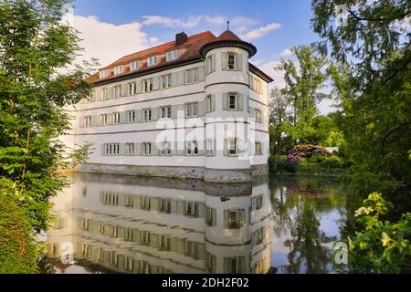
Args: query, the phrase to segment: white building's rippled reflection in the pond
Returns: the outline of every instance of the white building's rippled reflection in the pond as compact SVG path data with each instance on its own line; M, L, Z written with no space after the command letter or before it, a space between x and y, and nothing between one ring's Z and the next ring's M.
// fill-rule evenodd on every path
M76 265L137 274L267 273L270 203L266 180L212 184L73 174L55 200L48 257L71 243Z

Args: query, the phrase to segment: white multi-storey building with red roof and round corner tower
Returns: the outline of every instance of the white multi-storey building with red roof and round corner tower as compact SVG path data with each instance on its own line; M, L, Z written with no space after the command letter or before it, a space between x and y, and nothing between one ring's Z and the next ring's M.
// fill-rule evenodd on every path
M249 182L267 173L269 76L231 31L176 35L94 76L68 145L92 143L78 172Z

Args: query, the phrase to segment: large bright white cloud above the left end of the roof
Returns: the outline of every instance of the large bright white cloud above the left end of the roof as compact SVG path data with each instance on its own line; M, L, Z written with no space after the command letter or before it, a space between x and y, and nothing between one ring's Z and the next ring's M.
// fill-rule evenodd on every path
M70 23L82 39L79 45L84 48L77 62L95 57L101 67L105 67L120 57L158 42L155 37L148 38L137 22L116 26L101 22L97 16L71 16L71 19Z

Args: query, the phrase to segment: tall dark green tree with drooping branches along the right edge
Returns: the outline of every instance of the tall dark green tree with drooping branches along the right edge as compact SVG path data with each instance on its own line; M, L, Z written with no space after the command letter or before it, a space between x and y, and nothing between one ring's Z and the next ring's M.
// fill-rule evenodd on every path
M335 6L347 10L343 25ZM384 193L393 219L411 208L411 3L313 0L312 26L331 48L334 96L355 193Z

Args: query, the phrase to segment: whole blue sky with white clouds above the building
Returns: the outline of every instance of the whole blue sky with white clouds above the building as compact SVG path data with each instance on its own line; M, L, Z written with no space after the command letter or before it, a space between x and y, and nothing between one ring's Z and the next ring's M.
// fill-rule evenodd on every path
M292 58L289 49L319 38L311 31L310 0L77 0L73 26L84 39L84 58L98 57L101 66L147 47L210 30L218 36L230 29L253 43L258 53L251 62L284 86L279 59ZM330 111L329 100L320 105Z

